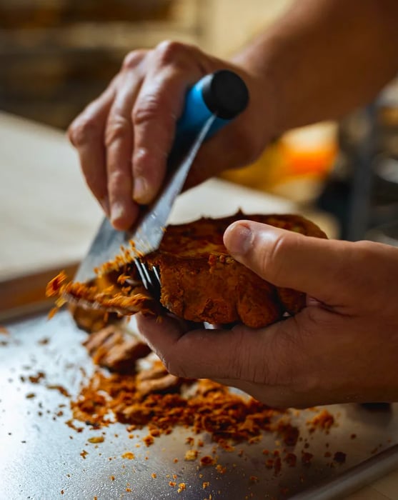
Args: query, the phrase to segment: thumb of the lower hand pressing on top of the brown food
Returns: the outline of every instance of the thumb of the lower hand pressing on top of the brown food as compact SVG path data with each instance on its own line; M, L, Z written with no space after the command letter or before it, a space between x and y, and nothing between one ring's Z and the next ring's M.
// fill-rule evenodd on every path
M303 291L329 306L350 304L354 291L363 286L356 246L347 241L237 221L225 231L224 244L234 259L263 279Z

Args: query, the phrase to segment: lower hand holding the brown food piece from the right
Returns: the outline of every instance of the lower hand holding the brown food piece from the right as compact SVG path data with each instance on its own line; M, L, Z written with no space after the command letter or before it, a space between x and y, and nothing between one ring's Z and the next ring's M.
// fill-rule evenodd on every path
M191 330L137 317L166 368L238 387L270 406L398 401L398 249L302 236L253 221L229 226L235 259L307 293L307 307L264 329Z

